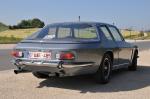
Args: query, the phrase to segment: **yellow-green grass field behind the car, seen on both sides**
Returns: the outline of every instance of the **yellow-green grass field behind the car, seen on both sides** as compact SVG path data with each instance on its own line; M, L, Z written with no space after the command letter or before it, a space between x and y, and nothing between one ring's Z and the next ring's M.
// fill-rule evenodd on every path
M38 30L38 28L32 28L2 31L0 32L0 43L17 43ZM121 33L126 39L150 39L150 33L146 37L140 36L139 31L121 30Z

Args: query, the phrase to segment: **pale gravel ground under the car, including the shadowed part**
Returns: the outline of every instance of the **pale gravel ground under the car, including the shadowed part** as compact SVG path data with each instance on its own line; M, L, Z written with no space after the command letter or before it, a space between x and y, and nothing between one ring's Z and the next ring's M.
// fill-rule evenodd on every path
M150 50L140 53L138 71L113 72L111 82L95 83L91 76L37 79L31 73L0 72L0 99L149 99Z

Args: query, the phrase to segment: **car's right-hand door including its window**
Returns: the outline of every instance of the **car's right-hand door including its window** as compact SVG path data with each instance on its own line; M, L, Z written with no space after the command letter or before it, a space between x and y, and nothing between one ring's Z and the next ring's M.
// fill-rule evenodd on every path
M119 48L119 65L129 64L132 54L130 44L125 42L123 36L116 27L108 26L108 28Z

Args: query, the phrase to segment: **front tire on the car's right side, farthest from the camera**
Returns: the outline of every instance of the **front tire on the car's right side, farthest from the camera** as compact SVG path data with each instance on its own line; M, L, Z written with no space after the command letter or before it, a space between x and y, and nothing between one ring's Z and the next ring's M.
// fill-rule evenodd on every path
M130 71L136 71L137 70L137 58L138 58L138 51L135 51L134 57L132 59L131 65L128 67Z

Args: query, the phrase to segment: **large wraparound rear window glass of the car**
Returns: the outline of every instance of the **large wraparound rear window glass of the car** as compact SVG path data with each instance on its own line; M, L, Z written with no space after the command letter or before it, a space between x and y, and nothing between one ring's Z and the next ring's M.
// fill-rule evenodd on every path
M47 26L28 39L98 39L96 28L91 25L53 25Z

